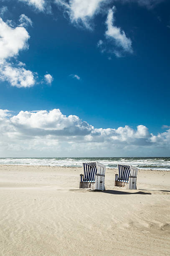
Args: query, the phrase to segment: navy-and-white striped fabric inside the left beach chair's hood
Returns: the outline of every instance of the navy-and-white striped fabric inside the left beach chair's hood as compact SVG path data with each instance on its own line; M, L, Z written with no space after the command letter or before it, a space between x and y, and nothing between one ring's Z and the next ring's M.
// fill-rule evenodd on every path
M84 180L83 181L95 181L95 175L97 172L96 163L83 163Z

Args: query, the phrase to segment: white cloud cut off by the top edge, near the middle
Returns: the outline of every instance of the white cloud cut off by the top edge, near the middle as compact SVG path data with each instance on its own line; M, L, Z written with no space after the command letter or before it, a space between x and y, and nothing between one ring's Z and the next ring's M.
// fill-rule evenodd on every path
M100 12L102 4L107 4L109 0L55 0L57 4L63 6L69 14L72 23L83 25L91 29L91 20L94 15Z

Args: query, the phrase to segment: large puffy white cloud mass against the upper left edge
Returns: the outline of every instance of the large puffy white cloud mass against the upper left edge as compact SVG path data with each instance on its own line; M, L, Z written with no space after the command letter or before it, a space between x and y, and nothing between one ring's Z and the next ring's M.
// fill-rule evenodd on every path
M21 15L20 19L28 17ZM0 18L0 80L8 81L12 86L30 87L35 84L34 74L30 70L23 68L25 64L18 62L14 64L10 61L18 56L23 49L28 49L28 39L30 38L25 28L18 26L13 28ZM16 61L15 61L16 62Z

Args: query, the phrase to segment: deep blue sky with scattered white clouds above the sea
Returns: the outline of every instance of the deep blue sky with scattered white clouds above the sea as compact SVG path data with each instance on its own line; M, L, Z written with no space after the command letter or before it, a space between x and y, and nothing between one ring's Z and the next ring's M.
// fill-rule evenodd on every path
M169 0L0 0L0 157L170 156Z

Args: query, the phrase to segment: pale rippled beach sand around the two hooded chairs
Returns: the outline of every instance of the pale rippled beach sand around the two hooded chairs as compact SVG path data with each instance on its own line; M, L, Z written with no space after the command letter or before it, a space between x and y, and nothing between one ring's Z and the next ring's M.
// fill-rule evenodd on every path
M81 168L0 166L0 255L170 256L170 172L141 170L137 190L79 189Z

